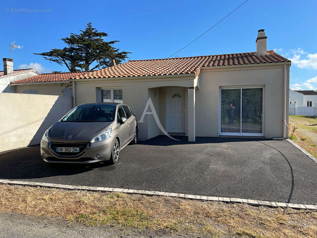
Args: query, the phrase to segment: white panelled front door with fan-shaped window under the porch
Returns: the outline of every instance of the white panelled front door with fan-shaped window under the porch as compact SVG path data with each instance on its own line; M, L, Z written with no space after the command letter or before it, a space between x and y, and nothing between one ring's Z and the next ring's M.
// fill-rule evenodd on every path
M167 89L167 132L185 133L185 90Z

